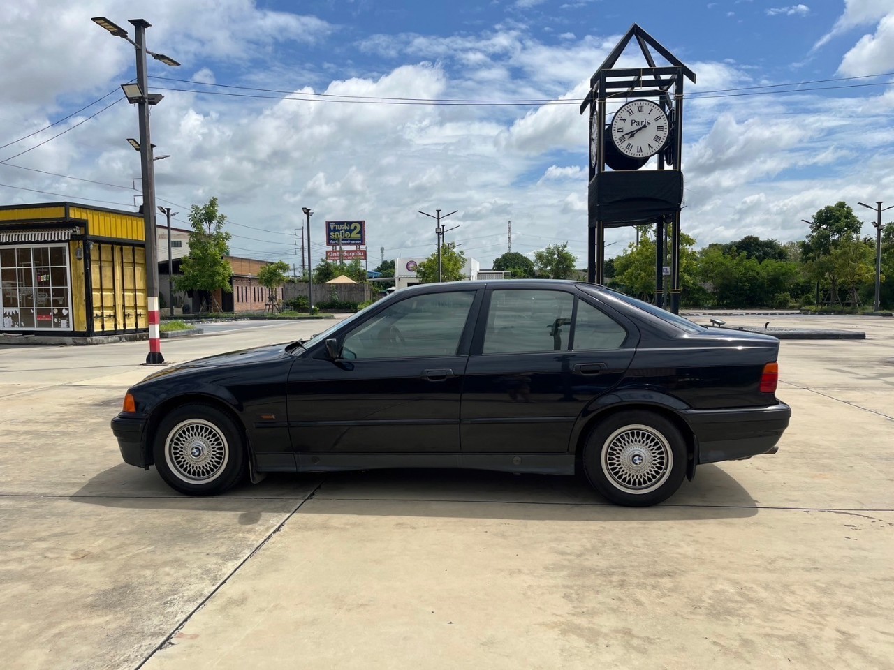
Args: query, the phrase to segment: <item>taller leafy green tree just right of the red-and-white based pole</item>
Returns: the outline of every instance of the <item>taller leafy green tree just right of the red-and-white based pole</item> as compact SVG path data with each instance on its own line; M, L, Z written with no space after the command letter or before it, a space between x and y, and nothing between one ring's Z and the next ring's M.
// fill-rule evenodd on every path
M182 276L175 284L177 290L198 291L203 310L211 298L211 308L220 311L215 291L232 292L232 267L224 258L230 254L231 235L223 231L224 222L226 216L218 211L216 197L190 209L190 253L181 259Z

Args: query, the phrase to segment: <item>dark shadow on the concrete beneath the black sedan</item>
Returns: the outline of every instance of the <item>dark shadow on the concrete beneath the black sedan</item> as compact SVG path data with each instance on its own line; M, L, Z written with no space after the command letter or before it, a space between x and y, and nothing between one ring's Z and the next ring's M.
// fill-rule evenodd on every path
M492 473L477 470L369 470L273 474L223 496L192 498L169 489L153 470L115 465L75 492L73 502L104 507L299 514L450 516L468 518L673 521L746 518L755 500L717 465L702 465L693 482L656 507L609 504L582 475ZM312 504L304 504L305 501ZM286 503L283 505L283 503Z

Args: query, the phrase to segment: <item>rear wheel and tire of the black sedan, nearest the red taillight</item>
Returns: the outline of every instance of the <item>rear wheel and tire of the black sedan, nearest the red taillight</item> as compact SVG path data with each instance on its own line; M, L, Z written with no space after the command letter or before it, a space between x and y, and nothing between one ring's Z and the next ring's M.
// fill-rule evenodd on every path
M596 424L584 445L586 478L609 502L648 507L670 498L683 482L686 441L662 415L631 410Z

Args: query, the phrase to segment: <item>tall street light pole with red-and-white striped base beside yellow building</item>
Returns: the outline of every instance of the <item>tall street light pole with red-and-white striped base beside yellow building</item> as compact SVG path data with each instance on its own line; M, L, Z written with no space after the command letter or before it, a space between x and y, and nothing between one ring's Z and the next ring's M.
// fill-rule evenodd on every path
M91 21L108 30L116 38L126 39L137 50L137 88L139 95L131 96L128 88L125 94L128 101L137 103L139 112L139 163L143 182L143 222L146 236L146 301L148 306L149 353L146 363L157 365L164 363L162 356L160 318L158 314L158 256L156 254L156 176L152 158L152 140L149 135L149 105L156 104L162 96L150 96L148 76L146 72L146 56L151 55L156 61L165 65L177 66L180 63L164 54L153 54L146 48L146 29L151 23L145 19L129 19L134 27L134 39L128 37L127 31L109 21L105 16L96 16ZM125 85L130 87L131 85Z

